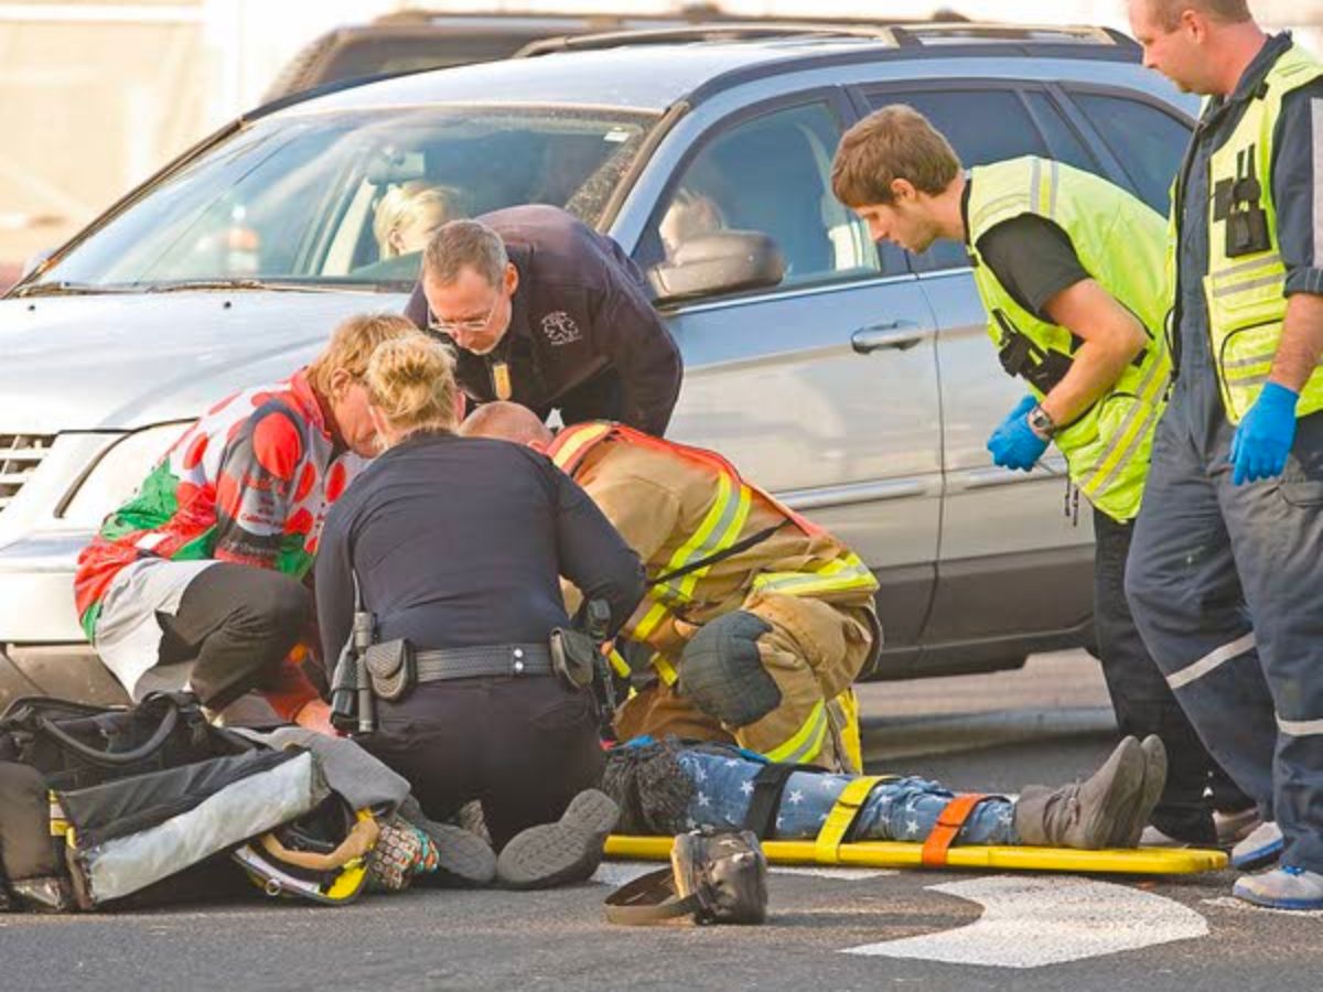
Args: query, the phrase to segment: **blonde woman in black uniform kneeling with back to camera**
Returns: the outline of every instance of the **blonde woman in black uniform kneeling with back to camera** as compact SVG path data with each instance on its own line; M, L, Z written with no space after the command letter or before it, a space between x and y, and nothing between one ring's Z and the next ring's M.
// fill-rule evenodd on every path
M455 435L462 395L445 345L388 341L363 382L382 454L327 518L321 641L339 656L357 582L376 641L417 672L397 698L378 696L378 730L363 743L409 779L433 820L482 802L500 857L487 852L467 881L581 880L618 809L593 788L593 701L553 675L548 641L569 626L562 575L610 604L614 632L643 595L639 558L544 455Z

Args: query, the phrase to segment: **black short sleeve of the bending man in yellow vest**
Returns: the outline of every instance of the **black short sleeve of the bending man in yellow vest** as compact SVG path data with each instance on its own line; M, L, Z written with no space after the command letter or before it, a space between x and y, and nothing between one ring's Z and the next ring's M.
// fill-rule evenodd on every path
M1011 299L1048 323L1054 323L1044 311L1048 300L1090 278L1066 233L1037 214L994 225L976 247Z

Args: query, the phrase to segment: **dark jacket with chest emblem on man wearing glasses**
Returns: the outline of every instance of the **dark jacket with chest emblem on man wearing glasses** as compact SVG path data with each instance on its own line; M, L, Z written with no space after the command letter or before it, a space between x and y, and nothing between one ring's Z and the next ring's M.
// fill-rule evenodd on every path
M493 365L505 362L507 398L544 419L560 409L565 423L620 421L660 436L683 366L638 266L611 238L554 206L512 206L478 220L505 242L519 288L509 329L491 354L455 349L464 393L479 403L500 398ZM405 315L427 327L421 282Z

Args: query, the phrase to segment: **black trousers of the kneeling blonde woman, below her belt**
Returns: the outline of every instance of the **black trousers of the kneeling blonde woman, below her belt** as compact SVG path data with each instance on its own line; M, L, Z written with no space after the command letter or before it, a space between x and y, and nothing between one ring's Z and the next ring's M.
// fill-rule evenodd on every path
M427 817L448 820L478 799L497 849L602 780L593 701L552 676L427 682L378 701L377 722L360 743L409 779Z

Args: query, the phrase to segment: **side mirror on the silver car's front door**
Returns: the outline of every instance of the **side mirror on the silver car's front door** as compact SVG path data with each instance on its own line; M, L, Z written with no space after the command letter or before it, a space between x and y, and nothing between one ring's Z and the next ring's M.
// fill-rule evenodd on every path
M722 230L689 238L675 257L648 270L655 303L717 296L778 286L786 259L777 242L757 230Z

